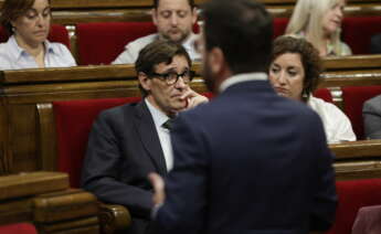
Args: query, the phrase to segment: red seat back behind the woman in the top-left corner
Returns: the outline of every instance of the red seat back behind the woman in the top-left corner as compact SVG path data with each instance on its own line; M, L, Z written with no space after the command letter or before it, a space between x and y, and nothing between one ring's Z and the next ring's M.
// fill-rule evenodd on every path
M7 42L8 38L8 32L2 26L0 26L0 42ZM70 49L68 32L63 25L53 24L47 35L47 40L51 42L60 42Z

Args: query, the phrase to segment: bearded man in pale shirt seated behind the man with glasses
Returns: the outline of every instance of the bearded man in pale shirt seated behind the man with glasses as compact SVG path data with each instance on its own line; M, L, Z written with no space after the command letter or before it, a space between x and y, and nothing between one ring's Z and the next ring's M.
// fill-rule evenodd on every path
M135 63L139 51L156 40L168 40L182 44L192 61L200 59L200 54L192 46L197 39L192 28L198 19L194 0L154 0L151 15L158 33L128 43L113 64Z

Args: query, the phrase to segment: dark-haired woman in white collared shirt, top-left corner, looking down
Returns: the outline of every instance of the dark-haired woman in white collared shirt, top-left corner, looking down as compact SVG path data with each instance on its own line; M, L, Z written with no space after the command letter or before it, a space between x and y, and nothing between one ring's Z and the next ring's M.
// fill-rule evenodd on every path
M0 70L75 66L67 47L46 40L51 26L49 0L6 0L0 22L11 35L0 44Z

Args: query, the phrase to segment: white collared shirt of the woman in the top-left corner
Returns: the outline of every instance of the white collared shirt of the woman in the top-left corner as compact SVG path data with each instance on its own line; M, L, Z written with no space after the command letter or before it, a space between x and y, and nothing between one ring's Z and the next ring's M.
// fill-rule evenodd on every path
M75 66L75 60L67 47L61 43L51 43L47 40L45 45L45 67L68 67ZM8 42L0 44L0 70L24 70L39 68L34 57L17 43L14 35Z

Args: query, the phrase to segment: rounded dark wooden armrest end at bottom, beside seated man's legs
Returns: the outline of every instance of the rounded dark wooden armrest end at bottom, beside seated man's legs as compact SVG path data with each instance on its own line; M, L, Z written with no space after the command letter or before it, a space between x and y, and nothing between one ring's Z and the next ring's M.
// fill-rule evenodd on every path
M131 223L127 208L117 204L99 204L99 221L102 233L114 233L126 230Z

